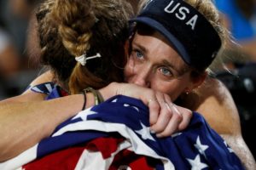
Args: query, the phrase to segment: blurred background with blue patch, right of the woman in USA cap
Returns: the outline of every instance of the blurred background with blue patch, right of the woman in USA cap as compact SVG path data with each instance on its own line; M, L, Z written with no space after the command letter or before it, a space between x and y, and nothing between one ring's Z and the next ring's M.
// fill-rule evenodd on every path
M214 0L222 22L233 41L224 55L230 71L219 71L236 102L241 117L241 131L248 147L256 157L256 0Z

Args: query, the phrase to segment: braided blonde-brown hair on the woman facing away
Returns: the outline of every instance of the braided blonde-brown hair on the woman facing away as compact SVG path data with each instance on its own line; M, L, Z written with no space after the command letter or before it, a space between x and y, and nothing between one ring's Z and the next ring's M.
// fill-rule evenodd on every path
M131 15L123 0L46 0L37 12L42 63L71 94L122 82ZM96 53L85 66L75 60Z

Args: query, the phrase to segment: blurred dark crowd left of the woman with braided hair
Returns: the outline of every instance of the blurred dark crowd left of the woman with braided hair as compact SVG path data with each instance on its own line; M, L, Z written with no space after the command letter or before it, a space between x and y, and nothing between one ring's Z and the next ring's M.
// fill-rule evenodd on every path
M39 1L0 0L0 99L22 93L41 70L33 25Z

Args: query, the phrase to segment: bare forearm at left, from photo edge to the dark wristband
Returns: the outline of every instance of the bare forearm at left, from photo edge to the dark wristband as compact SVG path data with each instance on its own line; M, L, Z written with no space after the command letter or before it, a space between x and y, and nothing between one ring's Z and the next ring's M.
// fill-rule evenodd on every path
M28 99L31 100L24 102ZM79 100L84 100L82 94L51 100L39 100L38 94L22 94L1 102L0 161L17 156L48 137L57 125L81 111L83 102Z

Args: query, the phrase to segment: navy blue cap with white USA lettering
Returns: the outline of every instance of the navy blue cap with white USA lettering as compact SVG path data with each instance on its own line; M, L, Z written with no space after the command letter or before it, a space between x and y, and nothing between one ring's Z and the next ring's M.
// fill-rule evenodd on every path
M183 0L149 0L131 23L159 31L181 55L184 62L206 69L221 48L221 39L210 22Z

